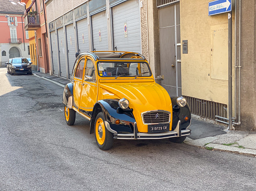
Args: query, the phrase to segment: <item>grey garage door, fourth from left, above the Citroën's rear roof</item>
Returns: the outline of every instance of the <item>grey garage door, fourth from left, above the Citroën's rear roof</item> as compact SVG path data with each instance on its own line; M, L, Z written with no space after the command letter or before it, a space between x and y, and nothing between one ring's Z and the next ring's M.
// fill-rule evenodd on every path
M78 39L78 51L89 51L89 39L88 39L88 24L87 18L76 22L77 39Z

